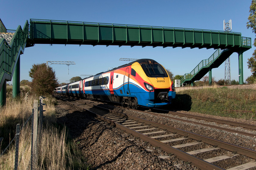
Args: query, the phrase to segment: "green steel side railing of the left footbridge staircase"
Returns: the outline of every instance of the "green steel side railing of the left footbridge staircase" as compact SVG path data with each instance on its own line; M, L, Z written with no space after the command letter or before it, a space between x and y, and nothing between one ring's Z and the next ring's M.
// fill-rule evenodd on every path
M4 38L0 40L0 81L4 73L11 75L20 48L25 48L28 32L29 26L26 21L23 29L20 25L18 26L10 44Z

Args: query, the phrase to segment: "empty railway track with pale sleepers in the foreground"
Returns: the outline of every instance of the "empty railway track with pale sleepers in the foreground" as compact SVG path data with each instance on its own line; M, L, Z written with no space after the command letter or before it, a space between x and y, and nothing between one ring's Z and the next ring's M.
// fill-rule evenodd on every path
M254 150L92 104L85 104L81 101L70 102L71 99L64 98L62 100L66 100L80 109L90 111L99 119L131 133L153 146L160 147L167 153L175 154L178 158L189 161L198 168L215 170L256 168L256 151ZM238 162L241 162L240 165Z

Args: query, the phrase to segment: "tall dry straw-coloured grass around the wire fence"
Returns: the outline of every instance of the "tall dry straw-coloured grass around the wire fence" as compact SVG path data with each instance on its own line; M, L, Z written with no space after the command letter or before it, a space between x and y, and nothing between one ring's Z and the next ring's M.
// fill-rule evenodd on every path
M30 116L33 101L32 97L29 100L7 99L6 106L0 110L0 137L4 137L0 150L3 150L14 137L16 124L23 124ZM67 137L66 127L56 124L56 100L46 97L44 103L46 111L41 144L38 146L37 169L89 169L75 142ZM18 169L30 168L30 142L31 124L27 124L20 133ZM0 157L0 170L14 168L14 153L15 148L11 145Z

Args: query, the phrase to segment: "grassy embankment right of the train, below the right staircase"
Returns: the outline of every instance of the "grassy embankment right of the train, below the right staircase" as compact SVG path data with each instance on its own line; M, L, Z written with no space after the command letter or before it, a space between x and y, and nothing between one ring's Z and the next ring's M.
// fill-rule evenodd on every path
M256 89L202 88L176 92L172 108L217 116L256 119ZM235 112L231 110L250 110Z

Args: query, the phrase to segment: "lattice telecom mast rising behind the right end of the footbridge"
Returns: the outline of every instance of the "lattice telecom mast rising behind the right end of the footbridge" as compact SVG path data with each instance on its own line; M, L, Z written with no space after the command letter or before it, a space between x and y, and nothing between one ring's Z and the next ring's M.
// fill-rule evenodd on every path
M229 22L225 22L225 19L223 21L223 29L226 32L230 32L232 30L232 22L231 19L229 20ZM230 73L230 57L227 58L227 60L225 61L225 78L224 78L224 83L226 84L226 80L228 82L228 84L231 84L231 73Z

